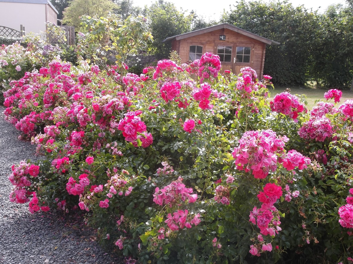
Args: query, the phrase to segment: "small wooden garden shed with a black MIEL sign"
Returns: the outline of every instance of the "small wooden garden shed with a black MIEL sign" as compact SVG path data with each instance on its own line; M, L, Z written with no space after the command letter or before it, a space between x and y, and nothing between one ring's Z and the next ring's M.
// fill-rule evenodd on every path
M212 52L220 56L222 71L238 74L241 68L250 66L259 78L263 76L266 45L280 44L227 23L168 37L165 41L172 41L172 50L178 52L181 63Z

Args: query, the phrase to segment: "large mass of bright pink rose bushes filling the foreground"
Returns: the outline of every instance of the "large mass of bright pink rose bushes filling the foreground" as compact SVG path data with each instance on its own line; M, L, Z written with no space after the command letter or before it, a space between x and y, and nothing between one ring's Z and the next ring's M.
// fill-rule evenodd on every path
M220 69L211 53L140 75L56 59L12 81L4 114L41 160L13 165L10 200L85 211L98 241L144 264L282 261L327 243L351 257L351 102L309 115L289 93L271 103L270 76Z

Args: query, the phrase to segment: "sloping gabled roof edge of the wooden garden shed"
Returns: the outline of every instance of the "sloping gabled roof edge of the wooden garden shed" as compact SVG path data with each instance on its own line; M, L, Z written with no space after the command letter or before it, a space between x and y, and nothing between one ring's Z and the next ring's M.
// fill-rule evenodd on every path
M270 40L270 39L266 39L265 37L262 37L262 36L259 36L257 34L254 34L254 33L251 33L249 31L246 31L244 29L235 27L235 26L233 26L231 24L228 24L228 23L222 23L222 24L218 24L218 25L211 26L211 27L208 27L208 28L198 29L198 30L191 31L191 32L188 32L188 33L180 34L180 35L177 35L177 36L167 37L162 42L171 41L171 40L174 40L174 39L175 40L186 39L188 37L193 37L193 36L197 36L197 35L200 35L200 34L208 33L208 32L214 31L214 30L225 29L225 28L226 29L230 29L230 30L232 30L234 32L243 34L243 35L245 35L247 37L250 37L252 39L256 39L258 41L264 42L267 45L279 45L280 44L279 42L276 42L276 41L273 41L273 40Z

